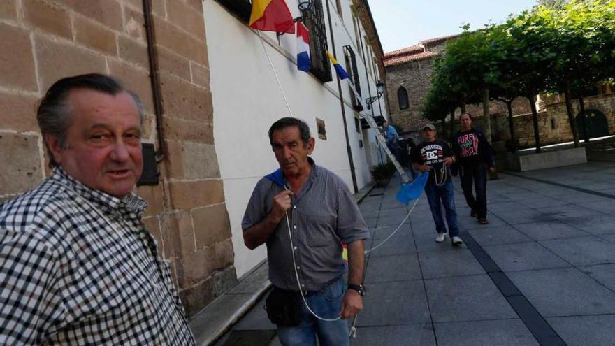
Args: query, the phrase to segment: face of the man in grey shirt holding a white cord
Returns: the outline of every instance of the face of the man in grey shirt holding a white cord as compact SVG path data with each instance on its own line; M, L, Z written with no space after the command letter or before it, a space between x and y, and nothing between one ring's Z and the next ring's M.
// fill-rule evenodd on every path
M298 126L273 131L271 147L285 176L297 177L310 171L307 155L312 154L314 150L314 138L303 143Z

